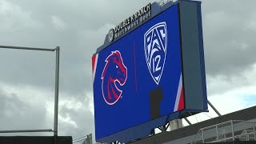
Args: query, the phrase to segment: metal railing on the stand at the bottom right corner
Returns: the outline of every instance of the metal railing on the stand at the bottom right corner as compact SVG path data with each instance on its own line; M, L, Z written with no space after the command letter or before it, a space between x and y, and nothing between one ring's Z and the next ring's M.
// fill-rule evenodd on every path
M240 120L218 123L198 130L191 143L232 142L236 138L240 141L256 141L255 126L256 122Z

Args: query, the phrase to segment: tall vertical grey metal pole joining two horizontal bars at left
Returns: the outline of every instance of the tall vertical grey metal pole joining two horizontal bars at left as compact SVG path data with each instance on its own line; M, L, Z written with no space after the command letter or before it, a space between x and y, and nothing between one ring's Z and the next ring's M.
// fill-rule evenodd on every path
M59 46L56 46L55 99L54 99L54 136L58 136L58 78L59 78Z

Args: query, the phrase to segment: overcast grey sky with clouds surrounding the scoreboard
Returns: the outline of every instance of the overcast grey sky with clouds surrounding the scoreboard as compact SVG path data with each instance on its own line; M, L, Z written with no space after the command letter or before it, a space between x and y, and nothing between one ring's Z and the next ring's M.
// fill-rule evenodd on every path
M110 28L153 0L0 0L0 45L61 47L59 135L94 134L91 56ZM205 0L208 98L222 113L256 103L256 1ZM54 52L0 52L1 130L53 129ZM206 113L207 114L207 113ZM215 117L198 114L191 121Z

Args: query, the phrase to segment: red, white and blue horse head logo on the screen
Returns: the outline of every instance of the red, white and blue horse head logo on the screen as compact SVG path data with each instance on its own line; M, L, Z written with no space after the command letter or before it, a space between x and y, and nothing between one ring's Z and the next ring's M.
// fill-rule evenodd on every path
M105 62L106 65L102 71L102 95L107 104L114 105L122 94L122 90L118 87L126 83L127 68L118 50L113 51Z

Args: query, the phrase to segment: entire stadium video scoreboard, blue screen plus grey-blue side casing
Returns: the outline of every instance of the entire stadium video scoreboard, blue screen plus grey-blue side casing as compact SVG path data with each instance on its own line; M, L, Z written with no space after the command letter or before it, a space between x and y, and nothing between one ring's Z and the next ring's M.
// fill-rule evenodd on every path
M200 4L163 8L124 37L109 37L110 45L93 55L97 142L141 138L174 118L207 111Z

